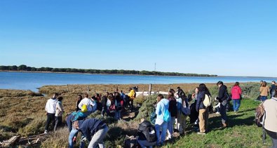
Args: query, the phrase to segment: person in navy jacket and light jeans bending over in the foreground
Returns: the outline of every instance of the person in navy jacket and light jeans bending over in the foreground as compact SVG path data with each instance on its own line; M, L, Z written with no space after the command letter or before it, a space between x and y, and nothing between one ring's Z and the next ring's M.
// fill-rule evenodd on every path
M102 120L91 118L85 121L74 121L73 126L83 134L81 142L86 140L90 142L88 148L104 148L104 137L109 128Z

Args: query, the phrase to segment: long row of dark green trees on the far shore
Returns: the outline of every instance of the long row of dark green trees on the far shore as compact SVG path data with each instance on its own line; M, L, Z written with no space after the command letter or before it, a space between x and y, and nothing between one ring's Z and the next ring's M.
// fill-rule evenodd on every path
M157 76L217 76L210 74L184 74L178 72L155 72L155 71L137 71L137 70L117 70L117 69L75 69L75 68L51 68L51 67L28 67L20 66L0 66L1 71L26 71L26 72L74 72L86 74L140 74L140 75L157 75Z

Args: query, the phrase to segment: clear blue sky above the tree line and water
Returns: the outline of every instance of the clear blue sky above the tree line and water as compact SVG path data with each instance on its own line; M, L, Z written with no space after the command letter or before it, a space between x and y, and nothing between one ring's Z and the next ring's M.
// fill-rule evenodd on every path
M277 76L276 0L1 0L0 65Z

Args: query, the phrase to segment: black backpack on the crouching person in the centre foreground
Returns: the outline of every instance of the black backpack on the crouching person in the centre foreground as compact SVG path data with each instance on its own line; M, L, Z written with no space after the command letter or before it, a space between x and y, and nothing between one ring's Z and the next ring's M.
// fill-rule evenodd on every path
M156 142L158 139L155 128L149 121L143 121L140 123L138 135L144 136L147 142Z

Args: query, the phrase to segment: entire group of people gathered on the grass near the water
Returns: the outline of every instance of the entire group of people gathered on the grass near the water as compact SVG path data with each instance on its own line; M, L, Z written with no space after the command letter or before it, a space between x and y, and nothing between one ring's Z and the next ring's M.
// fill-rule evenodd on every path
M275 86L275 81L274 86ZM273 83L272 82L272 83ZM264 84L265 83L265 84ZM241 105L242 90L239 83L236 82L231 88L231 95L229 95L227 86L222 81L217 82L219 88L218 95L215 100L218 102L216 105L217 111L222 118L222 127L228 126L227 118L227 105L230 100L233 101L234 112L238 112ZM267 90L267 91L266 91ZM273 96L271 100L266 100L267 92ZM271 86L269 90L266 86L266 82L263 81L261 88L261 99L264 101L266 116L277 116L277 93L275 88ZM103 139L107 134L109 128L106 123L100 119L87 119L89 114L92 114L96 110L100 110L103 116L113 116L115 119L122 118L122 111L126 110L126 107L133 109L133 100L136 97L135 88L130 88L128 94L118 91L114 93L105 93L104 95L95 94L93 97L88 98L88 94L78 95L76 101L76 112L72 112L67 115L67 126L69 128L69 147L74 147L76 142L76 135L81 132L81 147L84 142L88 140L90 142L89 147L104 147ZM210 109L212 109L212 96L210 91L201 83L195 92L191 96L191 103L184 91L177 87L177 91L170 89L168 95L165 98L159 94L156 99L155 105L155 119L154 121L147 121L142 119L140 127L138 129L137 142L141 147L152 147L154 145L161 146L165 140L170 140L173 137L174 128L178 130L180 135L184 135L187 126L187 116L198 126L198 134L205 135L208 133L208 116ZM273 100L276 100L273 102ZM275 107L275 108L274 108ZM274 113L272 113L275 109ZM48 133L48 128L52 122L54 130L57 130L60 123L62 123L62 113L64 109L62 107L62 97L58 97L55 93L52 98L46 103L47 121L45 133ZM277 119L271 119L276 123ZM276 126L272 126L269 120L265 125L266 131L271 135L273 143L277 145L277 129ZM149 132L146 132L149 131Z

